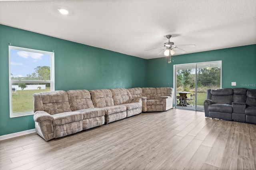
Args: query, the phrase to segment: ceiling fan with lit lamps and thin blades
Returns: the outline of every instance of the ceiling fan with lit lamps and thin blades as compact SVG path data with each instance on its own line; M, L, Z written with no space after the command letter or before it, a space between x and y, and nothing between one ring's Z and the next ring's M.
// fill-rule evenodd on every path
M174 42L170 42L170 38L172 37L172 35L167 35L166 38L168 38L168 42L164 43L164 47L162 47L162 50L157 54L160 55L164 52L165 56L169 56L169 63L171 63L171 56L174 55L176 53L176 51L174 49L178 49L181 51L181 53L186 53L187 51L185 51L184 49L180 49L179 47L195 47L196 45L192 44L192 45L174 45ZM153 48L153 49L158 49L158 48ZM148 51L151 49L147 49L145 51Z

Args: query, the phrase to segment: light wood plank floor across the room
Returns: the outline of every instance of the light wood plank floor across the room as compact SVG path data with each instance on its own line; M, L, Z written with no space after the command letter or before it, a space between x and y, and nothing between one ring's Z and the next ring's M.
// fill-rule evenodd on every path
M171 109L141 113L48 142L0 141L0 169L254 170L256 125Z

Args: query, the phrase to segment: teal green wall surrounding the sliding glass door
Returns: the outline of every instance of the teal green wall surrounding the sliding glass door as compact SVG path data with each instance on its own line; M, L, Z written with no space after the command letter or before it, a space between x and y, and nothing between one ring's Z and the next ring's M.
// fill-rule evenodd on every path
M256 89L256 44L147 60L147 86L173 87L173 65L222 60L222 88ZM231 86L231 82L236 86Z

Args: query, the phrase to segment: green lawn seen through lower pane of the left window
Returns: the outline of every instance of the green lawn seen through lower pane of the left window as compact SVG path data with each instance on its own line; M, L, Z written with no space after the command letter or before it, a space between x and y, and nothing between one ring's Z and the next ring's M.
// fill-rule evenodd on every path
M33 94L42 91L50 91L50 88L41 90L17 90L18 95L12 95L12 113L32 111Z

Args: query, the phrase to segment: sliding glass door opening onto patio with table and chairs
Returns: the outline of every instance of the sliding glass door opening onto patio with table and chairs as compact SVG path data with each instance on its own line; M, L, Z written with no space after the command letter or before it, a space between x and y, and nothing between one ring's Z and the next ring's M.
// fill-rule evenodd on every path
M175 107L204 111L207 89L221 88L221 61L174 65Z

